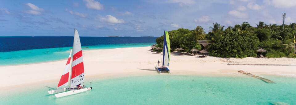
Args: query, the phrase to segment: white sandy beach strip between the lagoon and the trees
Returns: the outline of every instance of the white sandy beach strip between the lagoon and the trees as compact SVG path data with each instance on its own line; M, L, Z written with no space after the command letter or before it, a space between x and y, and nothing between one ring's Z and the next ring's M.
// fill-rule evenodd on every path
M134 75L160 75L155 70L161 54L150 52L149 47L116 48L104 50L83 50L85 77L114 77ZM183 55L178 52L171 53L169 69L171 75L191 74L237 74L243 70L254 75L274 74L296 77L296 66L253 66L234 65L228 63L249 64L290 64L296 65L293 58L253 58L244 59L207 57ZM14 65L0 67L0 89L8 87L28 86L38 83L59 81L67 59L36 63L27 65Z

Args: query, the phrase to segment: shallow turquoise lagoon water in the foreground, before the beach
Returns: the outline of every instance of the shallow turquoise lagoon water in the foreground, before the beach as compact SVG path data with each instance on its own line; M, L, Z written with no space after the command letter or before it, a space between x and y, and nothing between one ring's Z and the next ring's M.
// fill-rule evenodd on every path
M265 83L245 75L152 75L88 79L86 84L92 82L91 91L61 98L47 93L50 89L48 87L55 87L56 82L23 89L26 92L2 92L0 104L296 104L296 78L267 75L263 77L275 83Z

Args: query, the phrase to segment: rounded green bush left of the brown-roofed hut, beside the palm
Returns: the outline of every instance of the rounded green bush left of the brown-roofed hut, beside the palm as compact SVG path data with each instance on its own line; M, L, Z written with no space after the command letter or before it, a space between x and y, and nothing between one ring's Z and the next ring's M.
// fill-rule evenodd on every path
M180 38L180 48L183 48L185 52L190 52L191 49L200 50L201 46L198 42L192 40L191 34L185 34L182 38Z

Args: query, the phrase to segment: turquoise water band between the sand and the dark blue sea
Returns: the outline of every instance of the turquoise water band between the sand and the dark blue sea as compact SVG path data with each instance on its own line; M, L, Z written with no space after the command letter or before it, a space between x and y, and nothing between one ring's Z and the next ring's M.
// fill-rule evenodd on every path
M114 49L114 48L125 48L125 47L144 47L144 46L151 46L153 44L155 44L155 43L130 43L130 44L82 46L82 47L89 47L89 48L82 49L82 50ZM72 48L72 47L0 52L0 66L39 63L39 62L67 59L70 54L69 48Z

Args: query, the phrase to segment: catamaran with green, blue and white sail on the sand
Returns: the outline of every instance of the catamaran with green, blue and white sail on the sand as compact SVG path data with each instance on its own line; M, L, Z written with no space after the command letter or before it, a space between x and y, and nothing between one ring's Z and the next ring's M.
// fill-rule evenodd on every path
M171 47L170 47L170 38L167 31L164 31L164 40L163 40L163 48L162 48L162 66L157 67L159 73L161 74L162 71L168 72L171 74L171 71L168 69L169 63L170 63L170 53L171 53Z

